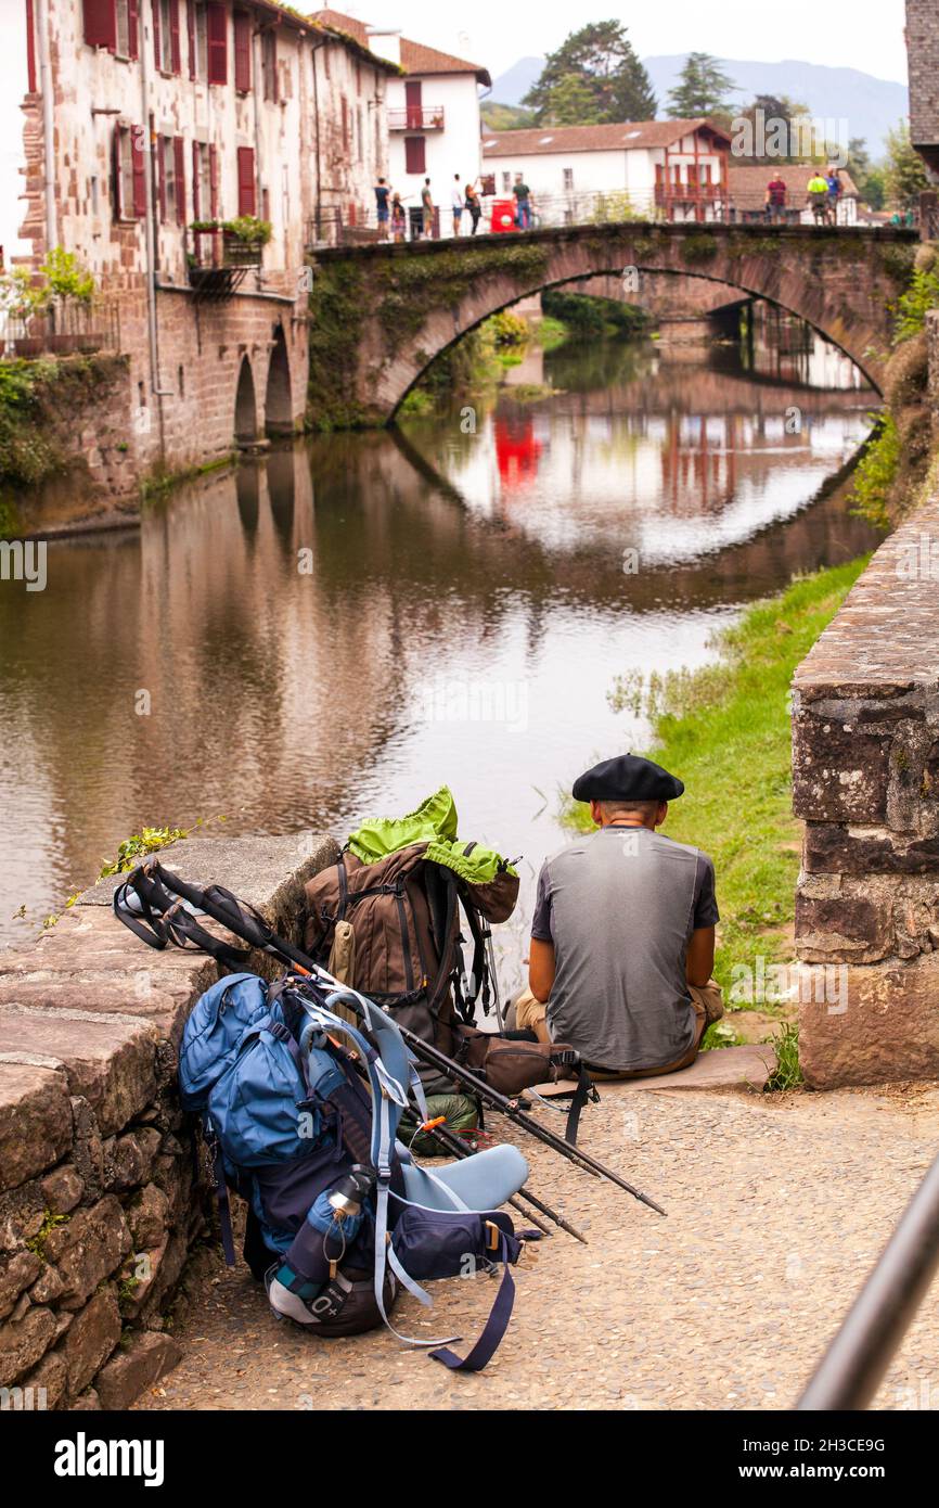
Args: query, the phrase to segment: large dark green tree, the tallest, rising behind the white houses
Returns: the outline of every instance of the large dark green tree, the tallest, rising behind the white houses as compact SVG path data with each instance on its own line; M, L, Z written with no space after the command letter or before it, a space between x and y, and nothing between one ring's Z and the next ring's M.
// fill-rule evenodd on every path
M653 121L657 109L650 77L619 21L571 32L544 59L521 103L535 112L537 125Z

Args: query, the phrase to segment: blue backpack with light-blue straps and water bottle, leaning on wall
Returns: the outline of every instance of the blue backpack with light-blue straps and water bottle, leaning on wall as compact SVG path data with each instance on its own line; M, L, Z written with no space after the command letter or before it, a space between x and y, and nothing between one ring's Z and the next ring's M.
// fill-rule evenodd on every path
M344 997L363 1007L371 1041L330 1009ZM381 1321L393 1330L401 1286L428 1304L418 1276L449 1277L467 1259L488 1271L502 1261L493 1313L466 1360L445 1341L401 1336L439 1347L431 1354L446 1366L485 1366L511 1315L508 1267L525 1246L496 1206L523 1185L528 1164L511 1146L439 1173L410 1161L395 1137L408 1090L425 1120L427 1105L414 1057L387 1013L351 991L324 997L292 976L277 985L231 976L187 1021L179 1087L185 1108L202 1113L214 1152L226 1259L234 1264L232 1187L249 1202L246 1258L279 1318L323 1336ZM368 1194L354 1214L338 1212L336 1188L351 1175Z

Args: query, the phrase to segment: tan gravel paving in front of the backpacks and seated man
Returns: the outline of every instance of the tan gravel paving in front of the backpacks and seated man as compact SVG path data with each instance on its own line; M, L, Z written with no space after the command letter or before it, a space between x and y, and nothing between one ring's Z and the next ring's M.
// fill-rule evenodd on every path
M136 1407L788 1408L934 1155L939 1087L601 1093L585 1148L668 1218L512 1137L532 1190L589 1246L558 1234L531 1267L526 1253L485 1372L454 1375L386 1330L315 1341L273 1320L240 1264L193 1303L178 1330L185 1359ZM452 1279L433 1294L433 1316L405 1297L396 1326L467 1345L494 1289ZM934 1295L874 1407L939 1408Z

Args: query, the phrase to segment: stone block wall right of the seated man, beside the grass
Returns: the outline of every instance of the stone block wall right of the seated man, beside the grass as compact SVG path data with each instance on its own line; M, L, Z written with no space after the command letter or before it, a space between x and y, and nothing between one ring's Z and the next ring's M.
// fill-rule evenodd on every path
M939 498L876 552L793 682L796 949L817 1087L939 1075ZM805 971L808 977L808 968Z

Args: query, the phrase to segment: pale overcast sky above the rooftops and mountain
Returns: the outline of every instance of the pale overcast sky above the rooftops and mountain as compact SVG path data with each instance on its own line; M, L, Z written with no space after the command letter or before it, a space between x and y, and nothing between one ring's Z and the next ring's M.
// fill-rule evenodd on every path
M594 0L574 11L562 0L336 0L336 9L469 56L493 77L520 57L552 51L574 26L615 17L642 57L799 59L906 83L903 0Z

